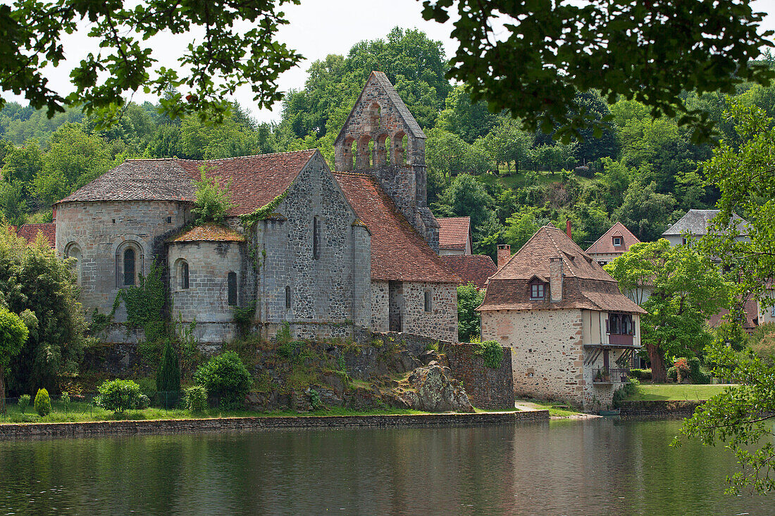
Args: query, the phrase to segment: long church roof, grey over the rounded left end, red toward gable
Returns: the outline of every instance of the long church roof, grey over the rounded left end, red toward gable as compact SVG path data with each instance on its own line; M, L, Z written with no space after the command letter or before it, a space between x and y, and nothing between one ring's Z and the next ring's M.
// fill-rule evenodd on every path
M229 215L243 215L267 205L288 189L315 149L261 154L222 160L126 160L59 202L71 201L188 201L194 202L199 169L222 185L231 181Z

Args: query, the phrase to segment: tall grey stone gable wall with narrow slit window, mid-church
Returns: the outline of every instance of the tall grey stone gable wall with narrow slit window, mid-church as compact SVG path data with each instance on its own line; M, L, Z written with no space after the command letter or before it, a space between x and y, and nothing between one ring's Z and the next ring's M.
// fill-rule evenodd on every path
M322 158L301 170L275 212L254 229L255 257L260 261L257 320L267 334L273 335L284 322L297 336L341 336L346 326L368 325L369 232L357 222ZM327 325L331 329L325 329Z

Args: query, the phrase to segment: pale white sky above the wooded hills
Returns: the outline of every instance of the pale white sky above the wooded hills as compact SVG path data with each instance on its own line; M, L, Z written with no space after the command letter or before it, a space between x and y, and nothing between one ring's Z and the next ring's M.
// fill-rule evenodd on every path
M756 11L772 13L766 16L763 28L775 29L775 0L754 0L753 8ZM422 19L420 0L301 0L301 5L284 6L284 11L290 24L280 29L278 40L287 43L306 60L281 75L281 91L303 87L307 77L306 70L312 61L323 59L330 53L346 55L353 44L362 40L384 38L394 26L421 29L432 40L440 40L447 57L451 57L456 50L456 40L449 37L453 29L451 22L444 25L426 22ZM68 61L77 63L89 50L97 50L93 48L94 42L84 36L84 32L79 31L64 40ZM154 57L167 67L176 65L177 56L188 44L188 38L168 34L160 34L152 41ZM66 62L58 68L50 68L47 77L53 89L67 93L72 89L69 74L70 68ZM24 98L10 98L26 104ZM137 94L133 100L156 99ZM241 88L235 100L250 109L260 122L280 119L281 103L275 104L271 111L257 111L250 88Z

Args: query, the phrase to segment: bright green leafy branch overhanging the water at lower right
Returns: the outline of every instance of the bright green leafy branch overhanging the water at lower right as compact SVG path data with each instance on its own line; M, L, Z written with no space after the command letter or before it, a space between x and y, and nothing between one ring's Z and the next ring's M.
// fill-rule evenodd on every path
M722 442L735 453L741 467L727 477L728 494L744 489L767 493L775 489L775 366L753 354L736 353L724 342L708 350L715 376L735 385L698 407L680 432L705 445Z

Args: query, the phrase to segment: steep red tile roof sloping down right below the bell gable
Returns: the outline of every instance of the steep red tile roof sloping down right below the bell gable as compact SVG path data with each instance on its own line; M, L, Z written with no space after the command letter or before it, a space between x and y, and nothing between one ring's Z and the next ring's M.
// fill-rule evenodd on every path
M460 283L391 198L367 174L335 172L347 201L371 232L371 279Z

